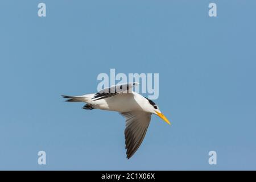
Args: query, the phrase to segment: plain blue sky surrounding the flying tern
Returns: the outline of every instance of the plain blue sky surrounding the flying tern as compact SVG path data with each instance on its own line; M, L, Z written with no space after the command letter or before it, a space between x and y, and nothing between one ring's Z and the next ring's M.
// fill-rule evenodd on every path
M0 7L0 169L256 169L255 1ZM60 97L96 92L97 75L110 68L159 73L155 102L172 122L153 116L130 160L121 115ZM210 150L217 165L208 164Z

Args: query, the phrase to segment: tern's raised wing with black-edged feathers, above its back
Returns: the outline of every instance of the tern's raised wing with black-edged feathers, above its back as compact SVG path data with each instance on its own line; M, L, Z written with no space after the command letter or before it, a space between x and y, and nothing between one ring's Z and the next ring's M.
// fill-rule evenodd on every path
M131 89L135 85L138 85L138 83L134 82L134 83L118 84L118 85L111 86L109 88L103 89L100 92L96 93L93 96L92 100L97 101L102 98L115 96L116 94L119 94L119 93L131 93Z

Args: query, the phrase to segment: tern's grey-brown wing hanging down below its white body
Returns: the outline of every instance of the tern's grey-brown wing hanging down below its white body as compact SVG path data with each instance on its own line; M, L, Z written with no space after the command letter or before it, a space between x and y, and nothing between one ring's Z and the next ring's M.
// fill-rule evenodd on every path
M151 114L143 111L130 111L121 114L126 118L125 148L127 159L129 159L141 146Z

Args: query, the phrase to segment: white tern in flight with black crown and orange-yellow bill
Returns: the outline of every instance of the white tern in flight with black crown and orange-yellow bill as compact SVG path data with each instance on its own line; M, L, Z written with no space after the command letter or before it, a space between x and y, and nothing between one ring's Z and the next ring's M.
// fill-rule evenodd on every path
M126 158L130 159L141 146L152 114L158 115L171 125L155 102L133 91L133 87L137 85L138 82L127 82L110 86L97 93L62 97L67 98L67 102L85 102L86 105L82 109L117 111L125 117Z

